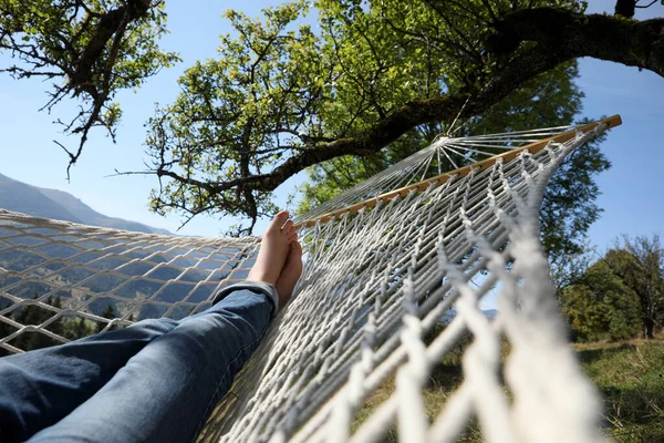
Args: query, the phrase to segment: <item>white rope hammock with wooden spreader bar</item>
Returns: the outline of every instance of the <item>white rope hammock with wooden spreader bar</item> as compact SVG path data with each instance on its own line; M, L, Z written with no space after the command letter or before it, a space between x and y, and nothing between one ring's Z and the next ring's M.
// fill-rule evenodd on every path
M616 124L442 138L299 217L305 264L295 296L200 441L373 442L396 424L404 442L453 442L473 418L489 442L603 441L599 399L557 310L538 212L564 156ZM506 153L474 163L497 150ZM458 169L440 175L448 164ZM66 342L53 330L72 318L107 330L201 311L217 289L246 278L259 247L258 238L148 235L0 210L0 349L21 352L29 333ZM491 291L492 321L478 307ZM117 318L101 317L108 305ZM51 317L18 322L29 306ZM432 372L467 333L464 381L432 412ZM359 420L385 383L393 392Z

